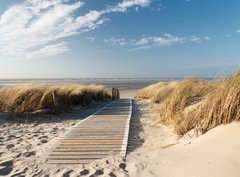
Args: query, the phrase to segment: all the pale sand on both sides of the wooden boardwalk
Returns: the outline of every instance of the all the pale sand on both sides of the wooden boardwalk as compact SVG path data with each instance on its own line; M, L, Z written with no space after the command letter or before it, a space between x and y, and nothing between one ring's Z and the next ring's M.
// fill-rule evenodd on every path
M133 98L137 90L121 92ZM169 127L155 125L158 107L134 101L127 158L118 155L89 165L49 166L44 151L79 119L106 103L89 109L75 107L60 115L0 118L0 175L6 176L119 176L119 177L237 177L240 174L240 123L218 126L199 137L178 139Z

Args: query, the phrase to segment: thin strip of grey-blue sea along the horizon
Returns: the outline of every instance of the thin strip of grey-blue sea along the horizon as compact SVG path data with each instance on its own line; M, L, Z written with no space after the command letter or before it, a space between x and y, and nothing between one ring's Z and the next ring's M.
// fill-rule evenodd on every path
M177 78L0 79L0 87L22 84L101 84L109 88L140 89L156 82L176 79Z

